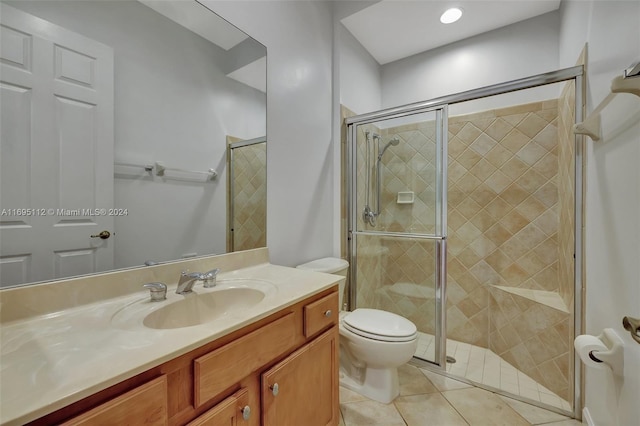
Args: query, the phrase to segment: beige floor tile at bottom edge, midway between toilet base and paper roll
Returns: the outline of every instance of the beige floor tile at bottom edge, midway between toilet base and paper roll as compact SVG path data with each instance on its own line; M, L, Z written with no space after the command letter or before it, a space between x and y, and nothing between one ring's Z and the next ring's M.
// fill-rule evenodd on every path
M528 426L522 416L497 395L479 388L442 392L471 426Z

